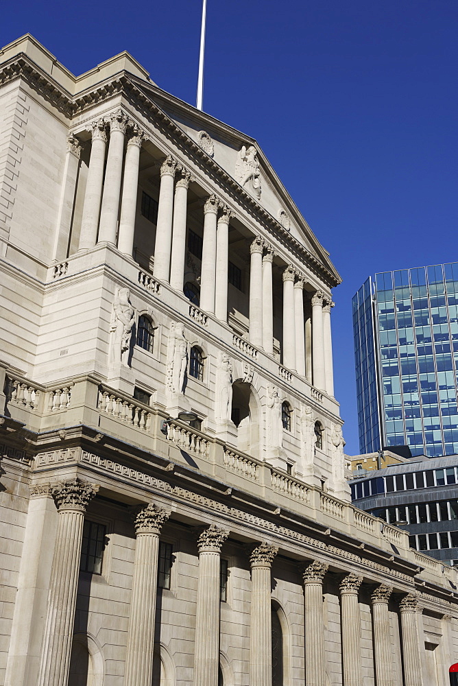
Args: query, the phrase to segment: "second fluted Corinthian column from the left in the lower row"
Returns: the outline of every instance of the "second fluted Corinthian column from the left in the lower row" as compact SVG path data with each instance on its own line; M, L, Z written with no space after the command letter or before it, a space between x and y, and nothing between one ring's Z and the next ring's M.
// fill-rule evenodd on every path
M159 534L169 512L149 503L135 519L135 561L125 657L125 686L151 686Z

